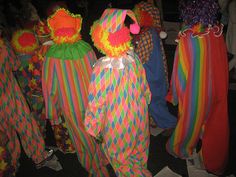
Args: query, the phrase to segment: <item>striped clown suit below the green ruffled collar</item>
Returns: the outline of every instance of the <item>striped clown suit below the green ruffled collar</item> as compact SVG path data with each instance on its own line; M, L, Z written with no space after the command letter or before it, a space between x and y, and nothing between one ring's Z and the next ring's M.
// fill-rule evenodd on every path
M96 176L109 176L106 164L101 164L100 147L83 123L93 58L91 51L78 60L46 58L42 80L46 115L52 124L58 124L57 110L62 110L79 162Z

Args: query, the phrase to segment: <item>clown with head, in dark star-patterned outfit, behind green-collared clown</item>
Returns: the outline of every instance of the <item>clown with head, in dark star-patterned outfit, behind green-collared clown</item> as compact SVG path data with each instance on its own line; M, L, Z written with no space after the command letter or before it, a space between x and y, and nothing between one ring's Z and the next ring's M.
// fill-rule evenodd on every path
M43 130L43 133L45 133L46 115L42 91L42 67L45 54L53 44L53 41L50 39L50 30L46 21L39 21L34 27L34 31L39 41L39 48L35 51L35 54L29 60L29 64L26 67L30 73L28 75L30 87L28 96L30 97L32 112L37 117L38 124ZM61 124L52 126L56 144L62 152L73 153L75 150L70 140L65 121L64 119L62 120Z

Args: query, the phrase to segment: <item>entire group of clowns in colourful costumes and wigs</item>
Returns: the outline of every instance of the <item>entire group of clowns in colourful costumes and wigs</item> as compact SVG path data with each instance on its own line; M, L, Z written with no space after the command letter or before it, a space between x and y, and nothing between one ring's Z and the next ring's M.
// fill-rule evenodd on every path
M169 154L198 157L198 168L224 173L232 42L225 42L218 1L179 1L171 74L154 1L133 9L110 3L87 31L93 46L81 35L86 18L66 2L50 4L44 17L30 1L21 3L26 19L14 28L1 21L0 176L16 175L21 149L37 169L63 170L45 145L47 121L57 148L76 153L90 176L109 177L110 164L116 176L151 177L150 127L170 133ZM167 102L178 106L177 116Z

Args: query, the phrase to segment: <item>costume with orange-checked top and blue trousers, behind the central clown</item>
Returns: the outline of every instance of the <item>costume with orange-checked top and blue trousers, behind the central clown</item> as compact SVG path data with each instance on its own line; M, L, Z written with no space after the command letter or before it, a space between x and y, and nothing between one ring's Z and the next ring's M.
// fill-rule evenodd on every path
M174 128L177 119L169 112L165 99L169 84L165 73L161 39L154 28L143 28L140 34L135 36L134 41L136 44L135 52L143 61L152 93L149 113L158 127L163 129Z

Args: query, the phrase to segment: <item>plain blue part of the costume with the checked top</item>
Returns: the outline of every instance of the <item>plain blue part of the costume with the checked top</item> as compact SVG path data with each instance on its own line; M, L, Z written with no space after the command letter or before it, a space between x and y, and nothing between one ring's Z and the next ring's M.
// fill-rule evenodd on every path
M143 65L147 75L147 81L152 93L149 112L158 127L173 128L176 126L176 118L171 115L166 105L165 97L168 90L167 76L163 61L161 39L157 32L150 30L153 41L153 50L150 59Z

